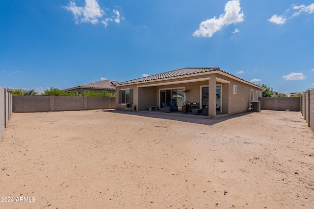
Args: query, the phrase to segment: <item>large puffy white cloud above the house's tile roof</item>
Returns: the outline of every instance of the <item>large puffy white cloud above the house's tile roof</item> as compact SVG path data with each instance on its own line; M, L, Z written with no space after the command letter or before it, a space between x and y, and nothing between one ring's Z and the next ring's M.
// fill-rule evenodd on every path
M220 15L218 19L214 16L200 23L200 28L193 33L193 36L210 38L215 32L221 30L223 26L244 21L243 11L240 12L240 10L239 0L228 1L225 5L225 14Z

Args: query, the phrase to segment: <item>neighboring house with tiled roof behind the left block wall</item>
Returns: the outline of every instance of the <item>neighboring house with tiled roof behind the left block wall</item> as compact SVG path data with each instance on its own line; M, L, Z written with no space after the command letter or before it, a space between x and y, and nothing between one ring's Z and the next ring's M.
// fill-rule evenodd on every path
M112 84L120 83L120 81L109 81L109 80L101 80L88 84L82 84L76 87L63 89L64 92L73 92L77 94L82 94L84 92L97 92L101 93L106 91L107 93L115 93L116 88L112 86Z

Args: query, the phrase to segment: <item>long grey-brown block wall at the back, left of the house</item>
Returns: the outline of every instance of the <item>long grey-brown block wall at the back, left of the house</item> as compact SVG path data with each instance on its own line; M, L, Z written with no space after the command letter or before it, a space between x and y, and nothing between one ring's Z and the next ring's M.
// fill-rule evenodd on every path
M114 97L13 96L14 113L114 109Z

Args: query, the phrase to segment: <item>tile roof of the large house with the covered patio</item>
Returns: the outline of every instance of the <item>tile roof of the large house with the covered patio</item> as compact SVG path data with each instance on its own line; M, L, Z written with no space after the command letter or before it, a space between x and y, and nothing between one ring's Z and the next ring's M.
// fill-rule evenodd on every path
M217 67L183 68L183 69L179 69L179 70L172 70L169 72L163 72L163 73L159 73L156 75L150 75L150 76L143 77L143 78L137 78L137 79L133 79L130 81L121 82L121 83L116 84L115 86L122 86L122 85L141 83L141 82L147 82L147 81L155 81L155 80L164 79L164 78L177 78L177 77L179 78L180 76L184 76L184 75L192 75L192 74L206 73L206 72L212 72L212 71L220 71L220 72L226 73L226 74L231 75L237 79L240 79L244 82L247 82L253 86L257 86L261 89L264 89L264 88L254 84L254 83L251 83L251 82L246 81L242 78L239 78L239 77L237 77L237 76L235 76L229 72L226 72L224 70L220 70Z

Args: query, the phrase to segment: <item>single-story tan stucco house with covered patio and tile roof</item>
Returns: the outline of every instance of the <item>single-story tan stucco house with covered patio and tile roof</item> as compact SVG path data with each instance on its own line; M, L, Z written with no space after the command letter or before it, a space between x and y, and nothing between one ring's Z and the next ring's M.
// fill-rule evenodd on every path
M185 109L188 103L203 115L234 114L251 108L251 101L259 101L264 88L245 81L219 68L184 68L125 81L116 87L116 109L147 110L165 103L175 103Z

